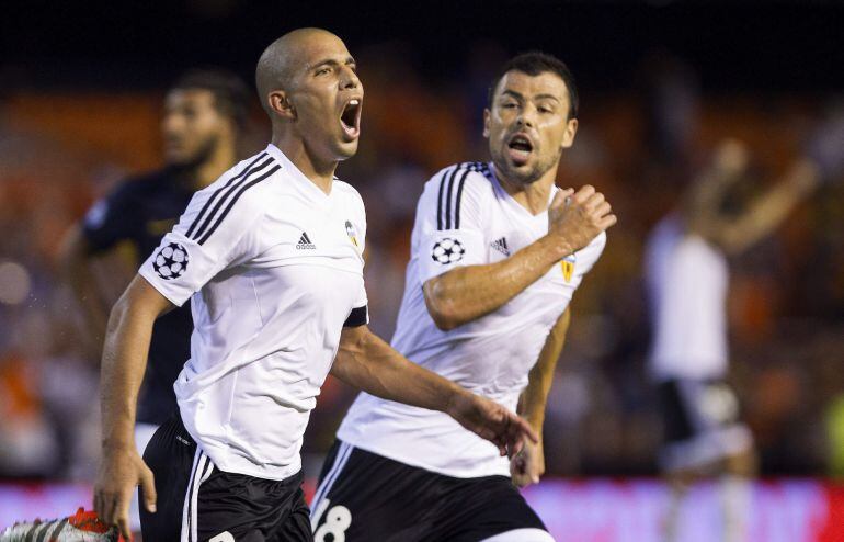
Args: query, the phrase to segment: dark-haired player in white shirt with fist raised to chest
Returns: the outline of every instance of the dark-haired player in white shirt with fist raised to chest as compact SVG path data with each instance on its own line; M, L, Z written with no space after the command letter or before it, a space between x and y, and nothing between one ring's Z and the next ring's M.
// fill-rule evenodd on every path
M528 53L503 66L484 111L492 162L425 184L392 338L421 366L517 406L538 433L569 302L616 222L592 187L555 187L577 116L559 59ZM544 461L541 441L509 463L441 413L362 393L320 476L315 538L552 540L515 487L537 483Z

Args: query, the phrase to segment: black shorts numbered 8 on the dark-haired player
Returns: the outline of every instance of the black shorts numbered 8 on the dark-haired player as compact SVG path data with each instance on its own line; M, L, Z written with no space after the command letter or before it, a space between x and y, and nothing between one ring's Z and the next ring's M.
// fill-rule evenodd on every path
M546 531L507 476L455 478L341 441L326 458L311 505L317 542L477 542L516 529Z

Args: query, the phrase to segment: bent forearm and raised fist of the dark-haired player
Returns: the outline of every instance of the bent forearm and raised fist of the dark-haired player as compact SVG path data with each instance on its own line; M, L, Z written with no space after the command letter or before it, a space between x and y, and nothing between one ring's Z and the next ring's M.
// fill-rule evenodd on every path
M427 310L443 330L498 310L615 223L609 203L594 188L562 190L548 208L546 236L500 262L456 268L426 281Z

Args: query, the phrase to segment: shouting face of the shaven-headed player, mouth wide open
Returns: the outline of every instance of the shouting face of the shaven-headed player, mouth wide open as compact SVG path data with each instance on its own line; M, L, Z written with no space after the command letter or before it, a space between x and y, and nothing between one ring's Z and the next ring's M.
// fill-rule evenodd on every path
M364 89L355 61L340 38L318 34L300 56L287 98L296 129L309 151L324 161L345 160L357 151Z

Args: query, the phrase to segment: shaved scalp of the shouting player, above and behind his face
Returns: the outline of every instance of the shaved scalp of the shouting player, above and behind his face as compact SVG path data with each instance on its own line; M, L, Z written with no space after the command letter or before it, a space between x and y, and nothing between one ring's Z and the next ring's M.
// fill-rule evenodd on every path
M266 95L273 90L289 90L288 87L297 68L307 60L307 47L313 38L340 37L322 29L297 29L271 43L261 54L255 68L255 86L261 106L272 115ZM342 42L341 42L342 43Z

